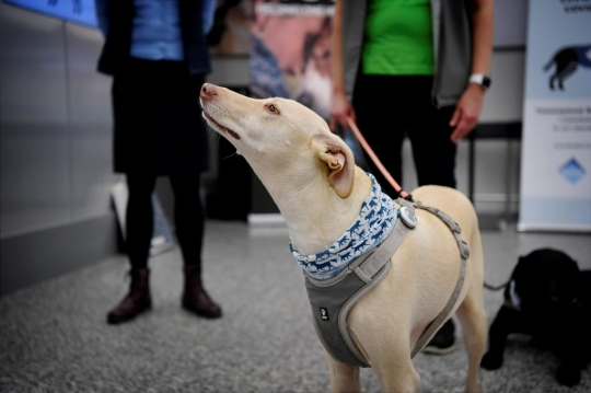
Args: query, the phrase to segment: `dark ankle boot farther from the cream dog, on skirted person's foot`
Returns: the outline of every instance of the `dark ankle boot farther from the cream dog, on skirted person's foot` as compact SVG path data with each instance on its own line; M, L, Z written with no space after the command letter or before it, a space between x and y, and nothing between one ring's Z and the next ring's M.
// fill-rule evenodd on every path
M147 268L132 268L129 270L131 284L129 293L124 300L111 311L107 315L107 323L117 324L132 320L140 313L152 308L152 298L150 297L150 270Z

